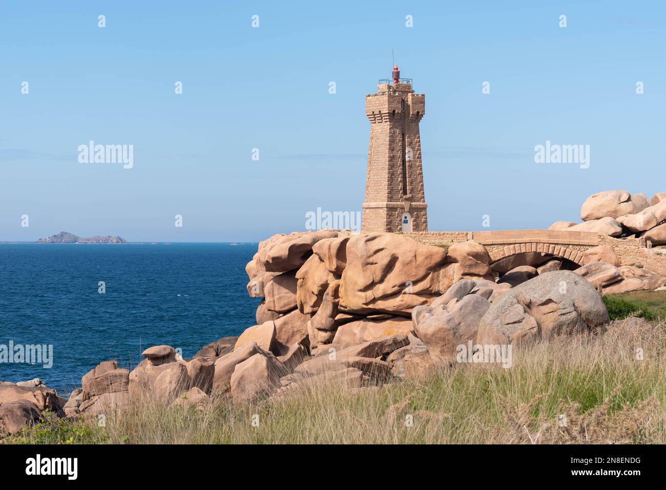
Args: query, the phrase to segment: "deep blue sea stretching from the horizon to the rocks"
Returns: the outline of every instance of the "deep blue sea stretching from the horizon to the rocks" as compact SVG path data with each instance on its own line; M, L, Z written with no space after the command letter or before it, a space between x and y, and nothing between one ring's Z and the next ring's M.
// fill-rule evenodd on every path
M0 346L53 346L53 367L0 363L0 380L59 393L105 360L132 369L145 348L184 358L255 324L245 265L257 244L0 244ZM106 292L99 293L99 282Z

